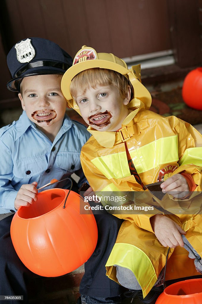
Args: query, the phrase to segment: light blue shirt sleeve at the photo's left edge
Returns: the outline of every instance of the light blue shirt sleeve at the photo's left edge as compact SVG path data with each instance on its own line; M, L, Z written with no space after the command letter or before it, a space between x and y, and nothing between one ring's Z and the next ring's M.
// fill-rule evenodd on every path
M15 210L14 202L18 191L11 181L13 178L13 161L9 148L0 140L0 213Z

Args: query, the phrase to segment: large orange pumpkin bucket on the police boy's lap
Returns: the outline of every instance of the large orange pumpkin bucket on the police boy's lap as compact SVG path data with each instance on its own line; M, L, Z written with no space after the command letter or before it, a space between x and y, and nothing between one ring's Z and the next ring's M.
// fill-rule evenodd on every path
M96 247L94 215L80 214L80 204L87 203L77 193L68 192L59 188L40 192L33 205L21 206L12 219L15 251L37 275L56 277L69 273L86 262Z

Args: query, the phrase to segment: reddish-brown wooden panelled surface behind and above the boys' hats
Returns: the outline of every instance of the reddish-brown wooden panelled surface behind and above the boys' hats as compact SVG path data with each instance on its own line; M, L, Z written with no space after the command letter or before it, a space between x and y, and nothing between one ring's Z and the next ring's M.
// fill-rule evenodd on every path
M82 45L128 57L171 48L166 1L6 0L12 36L53 40L74 56ZM6 32L6 28L5 28Z

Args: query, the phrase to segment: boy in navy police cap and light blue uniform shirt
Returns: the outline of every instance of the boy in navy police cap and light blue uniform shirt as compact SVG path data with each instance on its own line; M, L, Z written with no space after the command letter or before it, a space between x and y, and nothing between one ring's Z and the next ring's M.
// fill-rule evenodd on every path
M12 47L7 63L12 74L7 88L18 92L24 111L18 121L0 130L0 213L14 213L20 206L33 204L37 200L37 188L52 178L61 180L75 173L80 177L80 187L87 181L80 164L80 150L91 136L85 126L72 121L65 113L67 102L60 82L72 65L69 54L50 40L27 38ZM57 186L69 188L70 183L64 181ZM0 221L0 295L23 295L19 303L28 303L26 278L33 273L22 264L12 246L12 217ZM110 224L104 224L105 218L96 219L99 233L104 228L106 234L98 240L96 250L100 250L101 255L94 266L102 265L103 270L109 255L104 248L109 246L111 251L121 225L121 220L115 221L112 216ZM110 233L110 225L115 234ZM89 273L91 275L91 269L87 269L85 276ZM119 295L123 288L111 282L103 271L99 282L94 278L88 288L92 285L96 290L99 285L101 295L108 290L112 296ZM6 301L7 304L17 302Z

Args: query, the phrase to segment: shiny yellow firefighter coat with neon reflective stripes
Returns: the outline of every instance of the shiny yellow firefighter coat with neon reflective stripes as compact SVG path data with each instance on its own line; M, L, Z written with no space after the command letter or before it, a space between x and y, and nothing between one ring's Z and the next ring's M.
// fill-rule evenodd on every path
M81 150L81 164L89 184L94 191L143 191L130 173L126 143L144 185L157 182L159 172L163 169L176 168L169 175L180 172L192 174L197 185L190 198L183 200L187 210L194 198L197 200L199 197L196 205L200 205L201 134L190 124L174 116L163 117L146 110L142 101L137 98L132 102L130 108L133 111L123 121L122 129L118 132L99 132L88 128L93 136ZM172 203L178 204L176 199L168 196ZM190 213L191 211L190 208ZM187 231L187 239L202 256L202 216L178 213L165 216L169 216ZM117 282L114 265L130 269L141 285L145 297L165 266L168 247L163 247L157 240L150 224L151 214L116 216L125 221L106 263L107 275ZM199 273L184 248L176 247L170 250L166 279L196 274Z

